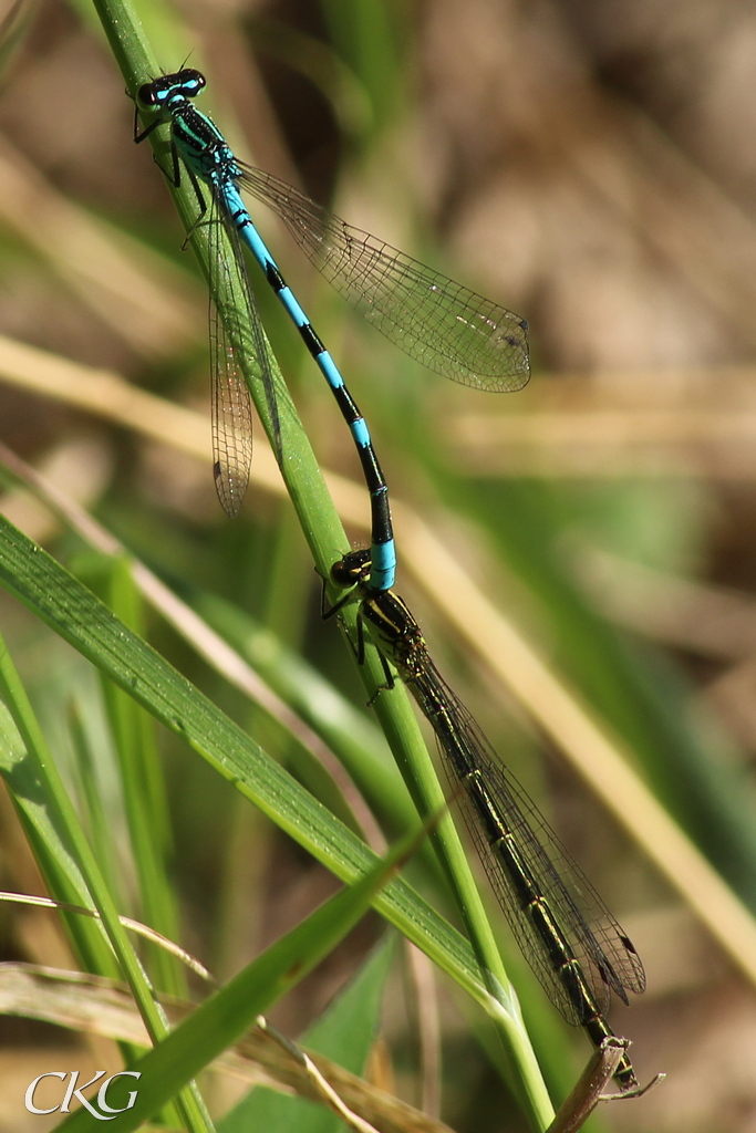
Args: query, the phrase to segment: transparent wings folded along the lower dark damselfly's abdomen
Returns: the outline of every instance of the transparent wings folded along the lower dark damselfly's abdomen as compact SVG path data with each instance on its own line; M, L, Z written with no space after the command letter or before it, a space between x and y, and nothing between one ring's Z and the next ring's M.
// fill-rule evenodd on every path
M585 1022L579 997L570 996L559 976L560 963L571 954L602 1014L611 991L627 1004L628 991L639 994L646 986L643 964L627 934L430 658L409 687L433 725L451 784L465 785L466 825L519 948L551 1002L569 1023ZM481 795L470 790L469 775L475 769L485 784L484 798L492 813L485 812ZM506 837L515 847L513 858L496 851L495 836ZM544 920L538 928L530 917L526 891L545 902L545 921L555 928L551 937L544 931Z

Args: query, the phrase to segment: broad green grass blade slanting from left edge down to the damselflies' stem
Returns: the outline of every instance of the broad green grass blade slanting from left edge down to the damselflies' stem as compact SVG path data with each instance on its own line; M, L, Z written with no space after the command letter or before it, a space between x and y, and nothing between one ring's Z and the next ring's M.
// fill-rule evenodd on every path
M87 657L101 672L207 759L343 880L354 881L374 855L321 807L232 721L216 709L146 642L131 633L91 591L41 547L0 517L0 582ZM389 900L391 894L391 900ZM418 895L392 883L377 904L407 931L418 914ZM465 983L481 994L467 945L426 909L421 935L447 952ZM417 927L411 937L418 936ZM453 960L452 960L453 956Z

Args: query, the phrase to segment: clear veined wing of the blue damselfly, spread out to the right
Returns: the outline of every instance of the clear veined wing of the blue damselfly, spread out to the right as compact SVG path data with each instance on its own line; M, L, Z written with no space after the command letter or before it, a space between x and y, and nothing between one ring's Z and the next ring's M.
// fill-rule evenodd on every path
M286 181L239 165L247 191L278 213L329 283L410 358L479 390L526 384L525 320L352 228Z

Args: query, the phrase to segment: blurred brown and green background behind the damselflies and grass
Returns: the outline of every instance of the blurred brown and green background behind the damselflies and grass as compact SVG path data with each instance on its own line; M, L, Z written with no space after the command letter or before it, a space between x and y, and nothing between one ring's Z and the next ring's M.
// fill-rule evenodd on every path
M422 516L753 911L756 8L186 0L175 10L181 33L161 25L153 41L161 63L206 70L203 109L239 153L528 320L525 391L451 386L345 315L261 220L371 423L397 502L399 589L434 658L646 963L646 995L612 1022L632 1039L642 1081L669 1077L604 1107L602 1123L756 1131L753 973L700 926L690 883L663 877L638 847L643 813L621 796L627 826L605 810L566 761L549 705L541 717L524 708L424 589L409 551L402 560ZM92 9L27 5L3 54L0 440L172 586L233 603L363 704L338 634L320 623L317 580L274 482L255 480L230 523L209 424L204 457L178 451L168 426L168 443L145 435L143 403L107 385L120 375L209 416L202 280L148 147L131 145L133 109ZM258 300L318 457L356 479L328 390L269 296ZM19 360L9 340L71 369L48 380L42 356ZM270 457L256 436L262 476ZM82 554L28 497L9 494L3 512L68 565ZM356 517L350 535L366 540ZM95 682L7 596L0 619L65 758L66 706L75 695L96 717ZM254 710L212 666L160 619L148 632L254 730ZM184 943L228 974L335 883L175 741L163 748ZM41 892L15 821L3 804L0 884ZM377 932L367 922L275 1022L296 1036ZM0 945L2 959L63 962L50 914L3 912ZM509 957L506 929L502 948ZM385 1039L391 1088L419 1105L408 979L397 973L387 997ZM438 983L443 1118L460 1131L523 1127L459 996ZM526 1015L543 1011L540 990L523 998ZM0 1039L8 1085L28 1081L39 1046L59 1033L10 1020ZM579 1033L563 1039L569 1060L554 1065L552 1051L545 1066L558 1092L588 1053Z

